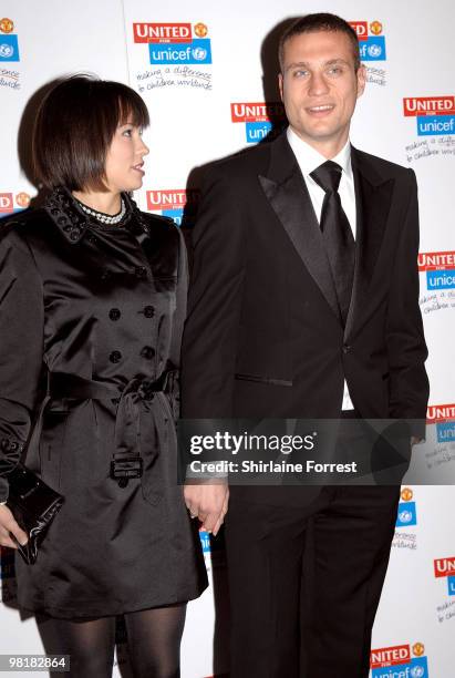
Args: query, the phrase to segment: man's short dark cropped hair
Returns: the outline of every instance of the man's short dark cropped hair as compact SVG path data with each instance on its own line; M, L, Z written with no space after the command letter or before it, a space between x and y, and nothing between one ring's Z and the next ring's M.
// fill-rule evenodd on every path
M286 31L282 33L278 47L278 59L280 62L281 73L283 72L285 65L285 45L294 35L301 35L302 33L316 33L318 31L338 31L345 33L352 45L352 53L354 56L354 70L355 72L360 68L360 51L359 51L359 39L354 29L341 19L337 14L330 14L328 12L319 12L314 14L307 14L297 19Z

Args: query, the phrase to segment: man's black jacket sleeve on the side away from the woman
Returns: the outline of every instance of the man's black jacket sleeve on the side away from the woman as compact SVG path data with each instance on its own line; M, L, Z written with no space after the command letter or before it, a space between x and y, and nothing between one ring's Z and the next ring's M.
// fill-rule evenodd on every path
M390 371L390 415L420 420L412 434L425 436L428 379L425 371L427 349L418 306L418 205L415 174L395 257L386 320Z

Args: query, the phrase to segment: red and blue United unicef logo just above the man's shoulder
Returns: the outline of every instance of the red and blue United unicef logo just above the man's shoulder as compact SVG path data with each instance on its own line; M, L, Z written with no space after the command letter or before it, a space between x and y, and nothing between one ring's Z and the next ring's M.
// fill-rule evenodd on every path
M286 120L281 102L239 102L230 104L232 123L245 124L247 144L256 144L272 130L273 123Z

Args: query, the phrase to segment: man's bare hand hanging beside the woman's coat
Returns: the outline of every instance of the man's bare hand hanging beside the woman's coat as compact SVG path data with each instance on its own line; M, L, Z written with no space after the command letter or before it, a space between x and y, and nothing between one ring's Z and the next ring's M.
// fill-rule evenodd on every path
M228 510L228 484L210 481L210 484L185 485L184 495L189 515L198 517L204 530L216 536Z

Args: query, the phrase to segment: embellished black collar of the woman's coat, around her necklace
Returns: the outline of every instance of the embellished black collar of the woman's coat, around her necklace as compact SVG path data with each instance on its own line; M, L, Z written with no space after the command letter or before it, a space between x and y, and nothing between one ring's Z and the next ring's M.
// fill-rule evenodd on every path
M136 203L126 193L123 193L122 196L126 202L126 215L122 226L132 227L134 224L135 229L148 233L148 225L137 208ZM77 201L63 186L58 186L52 191L44 203L44 209L65 239L72 245L80 243L91 226L100 227L100 223L81 209Z

